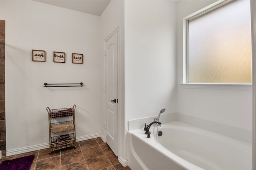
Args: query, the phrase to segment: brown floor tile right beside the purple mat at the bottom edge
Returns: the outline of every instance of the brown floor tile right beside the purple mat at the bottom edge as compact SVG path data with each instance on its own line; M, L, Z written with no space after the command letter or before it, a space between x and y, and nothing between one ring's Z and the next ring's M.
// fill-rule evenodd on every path
M50 170L60 167L60 156L36 161L36 170Z

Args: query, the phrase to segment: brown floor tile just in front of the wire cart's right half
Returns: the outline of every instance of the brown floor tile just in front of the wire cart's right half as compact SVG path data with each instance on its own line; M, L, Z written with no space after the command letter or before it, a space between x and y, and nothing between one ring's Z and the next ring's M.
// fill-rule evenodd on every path
M75 162L79 162L82 160L84 160L82 151L71 152L68 154L61 155L61 165L62 166L68 165L68 164L73 164Z

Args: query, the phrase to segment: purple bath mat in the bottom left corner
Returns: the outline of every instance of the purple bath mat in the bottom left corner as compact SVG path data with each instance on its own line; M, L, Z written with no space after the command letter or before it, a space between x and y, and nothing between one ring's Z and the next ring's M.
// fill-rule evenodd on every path
M30 170L34 157L34 155L30 155L12 160L4 160L0 164L0 170Z

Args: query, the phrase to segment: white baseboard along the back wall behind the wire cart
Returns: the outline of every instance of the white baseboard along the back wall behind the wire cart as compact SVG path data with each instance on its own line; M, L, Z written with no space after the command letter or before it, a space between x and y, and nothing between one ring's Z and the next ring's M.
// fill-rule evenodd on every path
M86 135L86 136L80 136L80 137L76 138L76 142L93 139L93 138L98 138L98 137L101 137L100 133L90 134L90 135ZM6 150L6 156L22 154L22 153L45 149L45 148L49 148L49 143L38 144L38 145L34 145L34 146L28 146L28 147L12 149L12 150Z

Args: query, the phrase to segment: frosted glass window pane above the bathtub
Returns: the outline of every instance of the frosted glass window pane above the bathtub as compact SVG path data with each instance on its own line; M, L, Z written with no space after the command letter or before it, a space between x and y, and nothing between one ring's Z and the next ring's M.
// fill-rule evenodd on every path
M252 83L250 0L188 20L188 83Z

